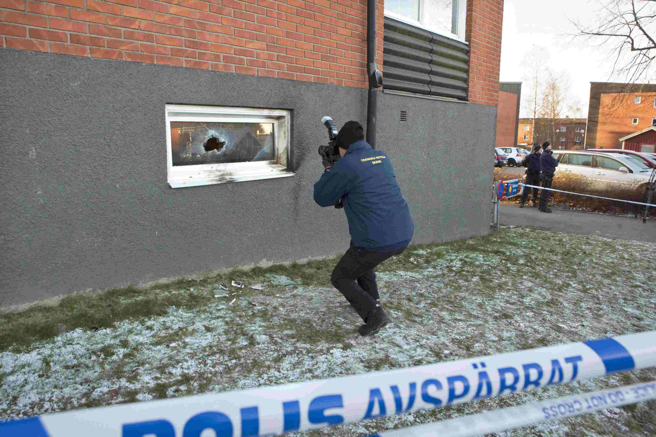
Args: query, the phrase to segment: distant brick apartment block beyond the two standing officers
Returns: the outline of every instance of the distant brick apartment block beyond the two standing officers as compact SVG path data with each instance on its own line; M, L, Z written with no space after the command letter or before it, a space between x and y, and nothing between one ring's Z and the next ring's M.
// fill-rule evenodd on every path
M523 145L551 142L554 149L582 150L587 119L520 119L517 143ZM555 132L555 133L554 133Z

